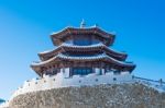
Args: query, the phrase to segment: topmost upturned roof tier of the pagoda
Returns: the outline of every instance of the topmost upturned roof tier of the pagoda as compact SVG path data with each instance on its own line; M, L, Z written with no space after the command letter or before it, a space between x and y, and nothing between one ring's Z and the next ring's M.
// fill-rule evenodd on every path
M53 33L51 35L52 41L55 46L58 46L64 43L64 39L72 38L73 35L95 35L100 39L105 40L107 46L110 46L114 41L114 34L109 34L99 27L82 27L82 28L75 28L75 27L66 27L61 32Z

